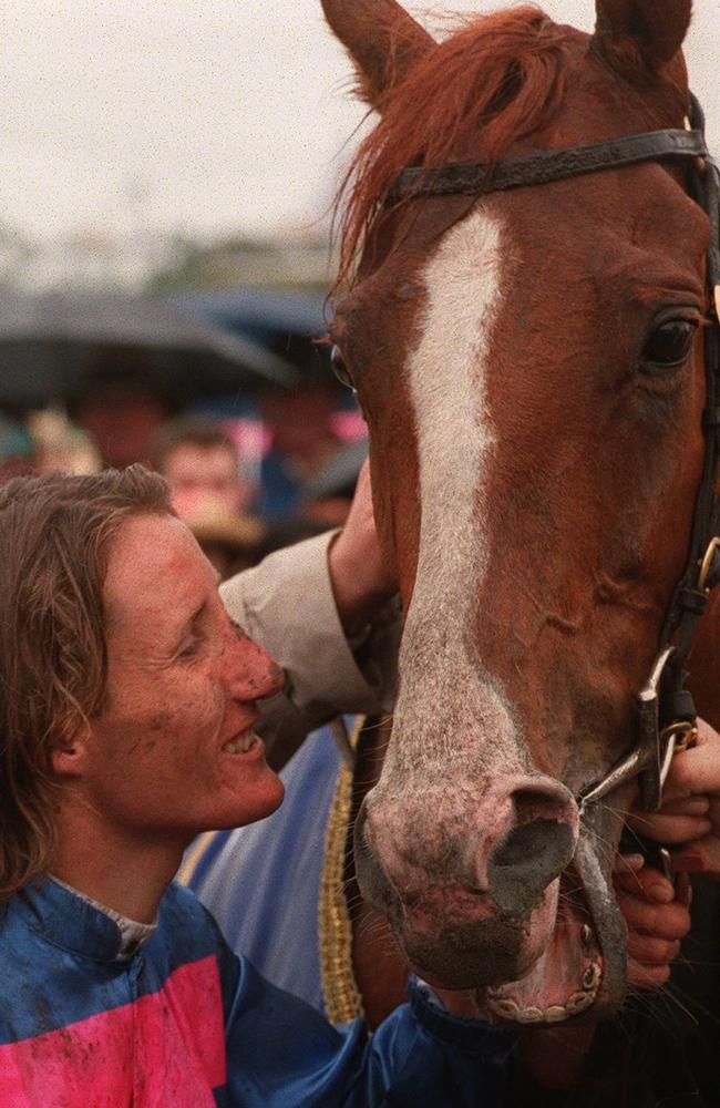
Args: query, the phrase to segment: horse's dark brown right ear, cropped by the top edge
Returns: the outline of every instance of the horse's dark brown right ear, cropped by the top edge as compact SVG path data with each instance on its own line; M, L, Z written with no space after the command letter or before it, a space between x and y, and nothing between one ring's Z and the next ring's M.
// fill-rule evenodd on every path
M690 25L692 0L596 0L595 49L614 69L657 71L675 58Z

